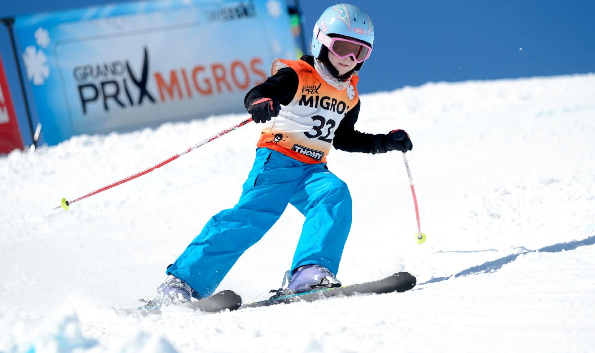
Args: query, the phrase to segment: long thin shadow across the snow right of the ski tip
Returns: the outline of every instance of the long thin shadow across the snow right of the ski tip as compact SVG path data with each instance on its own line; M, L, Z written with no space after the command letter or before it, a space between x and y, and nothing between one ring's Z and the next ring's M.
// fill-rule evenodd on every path
M466 270L462 270L461 272L455 274L455 278L460 277L460 276L466 276L466 275L472 274L472 273L481 273L481 272L490 272L490 271L499 270L500 268L502 268L503 265L506 265L506 264L512 263L512 261L515 261L516 258L519 257L519 255L529 254L530 252L561 252L561 251L565 251L565 250L574 250L574 249L578 248L579 246L593 245L593 244L595 244L595 236L590 236L587 239L583 239L583 240L573 240L572 242L568 242L568 243L558 243L558 244L554 244L554 245L544 246L543 248L537 249L537 250L528 250L528 251L520 252L519 254L511 254L511 255L508 255L505 257L501 257L494 261L488 261L487 263L484 263L481 265L469 267ZM424 283L419 283L419 285L427 285L428 283L441 282L443 280L449 279L450 277L452 277L452 276L432 277L430 280L427 280Z

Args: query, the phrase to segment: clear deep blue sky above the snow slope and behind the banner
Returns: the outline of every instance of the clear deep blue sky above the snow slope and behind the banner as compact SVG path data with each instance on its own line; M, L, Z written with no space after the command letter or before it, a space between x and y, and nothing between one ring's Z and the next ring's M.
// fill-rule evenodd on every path
M290 0L292 1L292 0ZM4 1L0 17L124 1ZM352 1L374 21L376 39L361 71L361 92L425 82L595 72L595 1ZM301 0L309 40L334 1ZM4 27L4 26L2 26ZM522 50L520 50L522 48ZM24 117L7 30L0 53L17 115ZM26 126L21 124L21 129ZM26 134L23 134L26 135Z

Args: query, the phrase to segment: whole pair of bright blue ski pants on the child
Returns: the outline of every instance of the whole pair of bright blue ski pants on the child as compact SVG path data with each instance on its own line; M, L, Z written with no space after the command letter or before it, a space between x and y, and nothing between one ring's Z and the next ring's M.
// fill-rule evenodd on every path
M233 208L211 217L167 269L202 298L212 295L237 259L267 233L287 204L305 215L292 270L316 264L337 274L351 227L351 195L324 163L308 164L268 148L256 160Z

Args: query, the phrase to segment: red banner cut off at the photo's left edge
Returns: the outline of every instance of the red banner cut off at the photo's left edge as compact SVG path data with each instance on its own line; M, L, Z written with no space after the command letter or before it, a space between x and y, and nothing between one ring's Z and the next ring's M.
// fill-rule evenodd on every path
M15 148L24 149L23 138L18 129L17 114L14 113L8 80L0 57L0 154Z

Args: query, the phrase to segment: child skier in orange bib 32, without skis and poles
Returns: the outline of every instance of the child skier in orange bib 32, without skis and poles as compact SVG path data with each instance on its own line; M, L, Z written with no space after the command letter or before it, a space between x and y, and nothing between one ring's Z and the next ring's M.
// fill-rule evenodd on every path
M360 107L357 73L373 42L368 14L337 4L314 26L312 55L273 61L273 75L252 88L244 101L255 123L263 127L239 202L206 223L167 268L168 277L152 302L170 304L212 295L288 203L306 220L286 274L288 284L277 296L341 285L335 275L351 227L352 204L347 185L327 168L331 146L371 154L412 149L403 130L372 135L353 127Z

